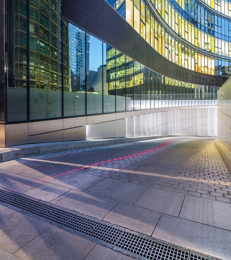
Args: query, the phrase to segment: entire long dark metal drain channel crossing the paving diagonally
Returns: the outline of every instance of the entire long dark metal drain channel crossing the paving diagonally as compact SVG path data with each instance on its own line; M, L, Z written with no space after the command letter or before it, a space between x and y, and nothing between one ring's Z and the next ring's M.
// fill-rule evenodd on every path
M140 260L221 260L0 188L0 203Z

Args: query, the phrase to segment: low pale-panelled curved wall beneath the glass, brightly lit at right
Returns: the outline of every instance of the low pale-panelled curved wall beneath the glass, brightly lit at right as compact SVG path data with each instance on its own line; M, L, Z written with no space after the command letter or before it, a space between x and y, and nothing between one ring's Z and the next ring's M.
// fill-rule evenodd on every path
M162 134L216 136L217 107L155 108L20 124L0 124L0 147Z

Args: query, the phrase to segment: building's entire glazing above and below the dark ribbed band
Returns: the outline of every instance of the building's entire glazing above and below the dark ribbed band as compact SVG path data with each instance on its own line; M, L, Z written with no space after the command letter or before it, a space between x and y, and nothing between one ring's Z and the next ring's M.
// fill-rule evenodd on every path
M191 70L228 77L231 39L226 28L231 33L231 23L212 17L204 9L204 21L200 15L198 23L193 24L191 16L179 16L179 5L172 1L153 1L154 7L145 0L111 3L162 56ZM155 73L65 20L62 35L61 0L31 0L29 17L27 1L6 2L6 49L14 50L6 51L8 121L215 104L217 87L181 82ZM163 28L152 8L158 9L180 37L205 52L195 51L175 39ZM188 9L184 11L187 13ZM209 27L210 31L205 29ZM213 52L221 57L212 56Z

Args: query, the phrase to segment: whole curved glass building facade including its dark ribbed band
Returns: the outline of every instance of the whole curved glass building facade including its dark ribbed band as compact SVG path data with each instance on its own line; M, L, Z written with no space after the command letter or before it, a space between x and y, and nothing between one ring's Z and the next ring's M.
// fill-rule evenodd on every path
M86 139L88 116L213 107L231 75L229 1L0 1L1 146Z

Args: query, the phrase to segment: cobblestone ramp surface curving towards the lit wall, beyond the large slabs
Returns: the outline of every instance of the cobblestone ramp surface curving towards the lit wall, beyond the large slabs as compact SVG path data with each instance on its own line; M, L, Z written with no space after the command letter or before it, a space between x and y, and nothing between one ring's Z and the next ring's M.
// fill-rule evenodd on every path
M169 140L173 138L18 159L1 163L0 174L10 172L30 178L37 175L43 179L44 176L71 171L84 165L143 152ZM35 171L34 175L31 174L32 171ZM102 163L81 171L104 178L231 202L231 175L212 138L178 137L158 150ZM70 177L73 177L73 174L70 173Z

